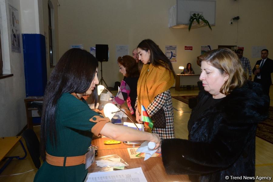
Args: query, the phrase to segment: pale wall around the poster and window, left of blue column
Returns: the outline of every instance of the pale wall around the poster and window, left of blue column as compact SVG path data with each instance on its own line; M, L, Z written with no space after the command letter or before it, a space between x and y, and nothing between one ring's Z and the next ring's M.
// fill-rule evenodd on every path
M12 73L12 77L0 79L0 137L2 136L15 136L26 125L25 113L25 75L24 75L24 62L23 62L23 49L21 46L21 53L11 52L10 43L10 30L9 30L9 8L8 4L12 5L19 11L20 15L20 2L17 0L1 0L1 16L2 25L4 28L2 48L4 47L3 62L10 66L10 70L5 70L4 73ZM5 9L6 12L2 10ZM18 17L21 22L21 18ZM22 38L20 39L22 45ZM8 66L7 66L8 67ZM7 68L6 67L6 68ZM4 70L3 70L4 71Z

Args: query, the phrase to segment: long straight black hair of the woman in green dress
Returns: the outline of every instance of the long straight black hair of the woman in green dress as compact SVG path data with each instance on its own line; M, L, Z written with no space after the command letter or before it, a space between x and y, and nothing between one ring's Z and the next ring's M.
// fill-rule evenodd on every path
M53 69L45 88L41 118L41 157L45 159L45 145L50 140L52 146L57 145L55 111L58 99L63 93L85 93L93 81L97 59L82 49L66 51ZM97 103L97 91L92 95Z

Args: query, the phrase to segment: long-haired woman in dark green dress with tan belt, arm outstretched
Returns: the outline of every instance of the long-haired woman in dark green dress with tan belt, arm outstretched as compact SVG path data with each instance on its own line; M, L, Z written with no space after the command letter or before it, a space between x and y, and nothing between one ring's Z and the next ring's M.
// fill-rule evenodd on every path
M64 53L47 83L41 119L41 156L45 160L34 181L84 181L85 154L92 136L119 141L149 140L160 145L157 134L110 123L91 110L82 98L97 99L98 61L82 49ZM96 103L96 102L95 102Z

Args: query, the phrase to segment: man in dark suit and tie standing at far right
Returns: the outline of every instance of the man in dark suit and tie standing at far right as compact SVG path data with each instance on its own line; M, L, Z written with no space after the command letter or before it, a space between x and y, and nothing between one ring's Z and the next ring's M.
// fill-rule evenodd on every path
M269 95L269 88L272 84L271 73L273 72L273 60L268 58L268 50L261 51L261 58L258 60L252 69L254 82L261 83L261 86L266 94Z

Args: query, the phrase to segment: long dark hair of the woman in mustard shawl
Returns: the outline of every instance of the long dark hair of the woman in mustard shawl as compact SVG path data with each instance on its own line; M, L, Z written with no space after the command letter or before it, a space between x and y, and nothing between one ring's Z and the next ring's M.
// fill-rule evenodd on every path
M150 63L153 64L154 66L163 66L164 68L170 70L174 77L175 72L172 63L170 62L170 59L168 59L165 54L161 51L159 46L153 42L151 39L145 39L141 41L137 48L140 48L146 52L150 50ZM141 67L143 63L140 61Z

